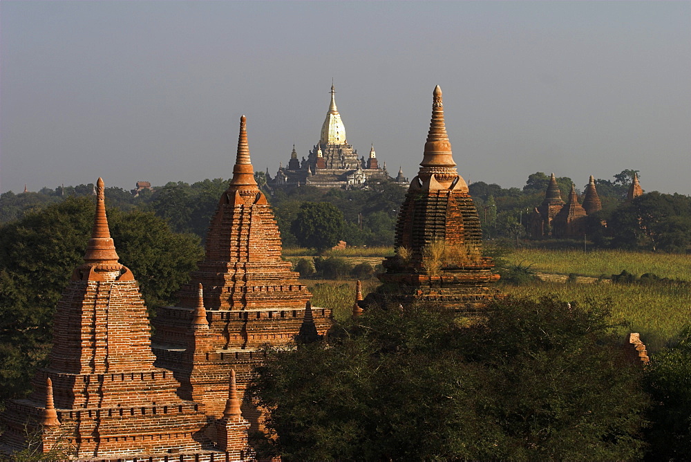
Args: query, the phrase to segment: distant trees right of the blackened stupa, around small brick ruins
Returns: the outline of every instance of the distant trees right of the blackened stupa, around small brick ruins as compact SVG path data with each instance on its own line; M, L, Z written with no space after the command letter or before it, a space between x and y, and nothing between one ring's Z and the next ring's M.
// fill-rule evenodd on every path
M682 194L650 192L627 202L626 196L637 170L623 170L613 180L595 180L603 209L587 216L585 236L577 240L542 239L541 246L583 248L588 246L652 252L685 253L691 251L691 198ZM471 196L480 214L485 239L508 238L523 245L536 245L527 241L529 217L533 209L545 198L549 176L536 172L519 189L504 189L500 185L478 181L469 186ZM558 177L562 199L567 200L571 178ZM585 190L585 187L583 188ZM583 196L578 199L583 203Z

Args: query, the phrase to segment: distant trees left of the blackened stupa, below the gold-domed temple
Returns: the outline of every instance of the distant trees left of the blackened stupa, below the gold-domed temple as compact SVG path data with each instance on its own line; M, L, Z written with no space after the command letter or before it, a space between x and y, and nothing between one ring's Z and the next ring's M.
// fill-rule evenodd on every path
M265 187L261 172L256 174L256 179L261 187ZM142 190L136 197L120 187L106 187L106 206L108 209L153 212L167 221L173 231L193 233L203 240L228 182L223 178L207 179L191 185L182 181L170 182L154 187L153 191ZM328 230L328 235L319 235L319 238L325 239L323 248L341 240L350 246L392 246L398 208L406 194L406 188L392 182L372 185L369 190L322 190L303 186L287 191L264 191L274 209L283 246L287 248L315 247L311 245L314 243L314 234L310 234L310 230L314 228L312 223L318 219L328 219L332 228ZM55 190L44 187L39 192L21 194L6 192L0 195L0 223L16 221L68 197L91 194L92 183L58 187ZM303 212L299 219L301 210L309 208L305 203L322 205ZM332 207L324 207L323 204Z

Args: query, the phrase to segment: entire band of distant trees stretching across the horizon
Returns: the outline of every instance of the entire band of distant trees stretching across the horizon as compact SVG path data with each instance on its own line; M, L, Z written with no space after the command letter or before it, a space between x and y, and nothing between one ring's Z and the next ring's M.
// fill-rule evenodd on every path
M625 201L636 170L623 170L612 180L595 180L603 209L587 216L585 239L589 246L663 252L691 250L691 198L681 194L651 192ZM348 246L392 246L395 223L407 192L399 183L372 185L369 190L323 190L294 187L268 190L262 172L256 175L271 203L283 246L329 248L339 241ZM485 239L528 241L529 221L545 198L549 176L536 172L522 188L503 188L484 181L471 183L470 194L477 207ZM557 178L562 198L571 190L571 178ZM119 187L106 187L106 205L120 210L152 212L175 232L189 232L205 239L211 215L228 181L222 178L188 184L171 182L133 196ZM583 188L585 189L585 187ZM580 189L576 188L580 194ZM39 192L0 195L0 223L21 219L28 212L63 201L70 196L90 196L93 184L75 187L44 187ZM579 197L583 201L583 196ZM575 241L543 239L540 245L573 247Z

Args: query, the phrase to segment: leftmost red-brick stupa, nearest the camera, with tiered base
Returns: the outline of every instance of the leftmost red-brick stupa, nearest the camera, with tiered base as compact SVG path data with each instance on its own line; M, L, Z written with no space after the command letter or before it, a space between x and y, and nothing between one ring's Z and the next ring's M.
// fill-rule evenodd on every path
M44 452L57 444L79 460L240 459L239 448L214 449L202 406L180 399L173 373L154 366L150 335L139 285L118 263L99 178L92 237L58 303L48 367L29 398L8 406L3 450L26 445L26 425Z

